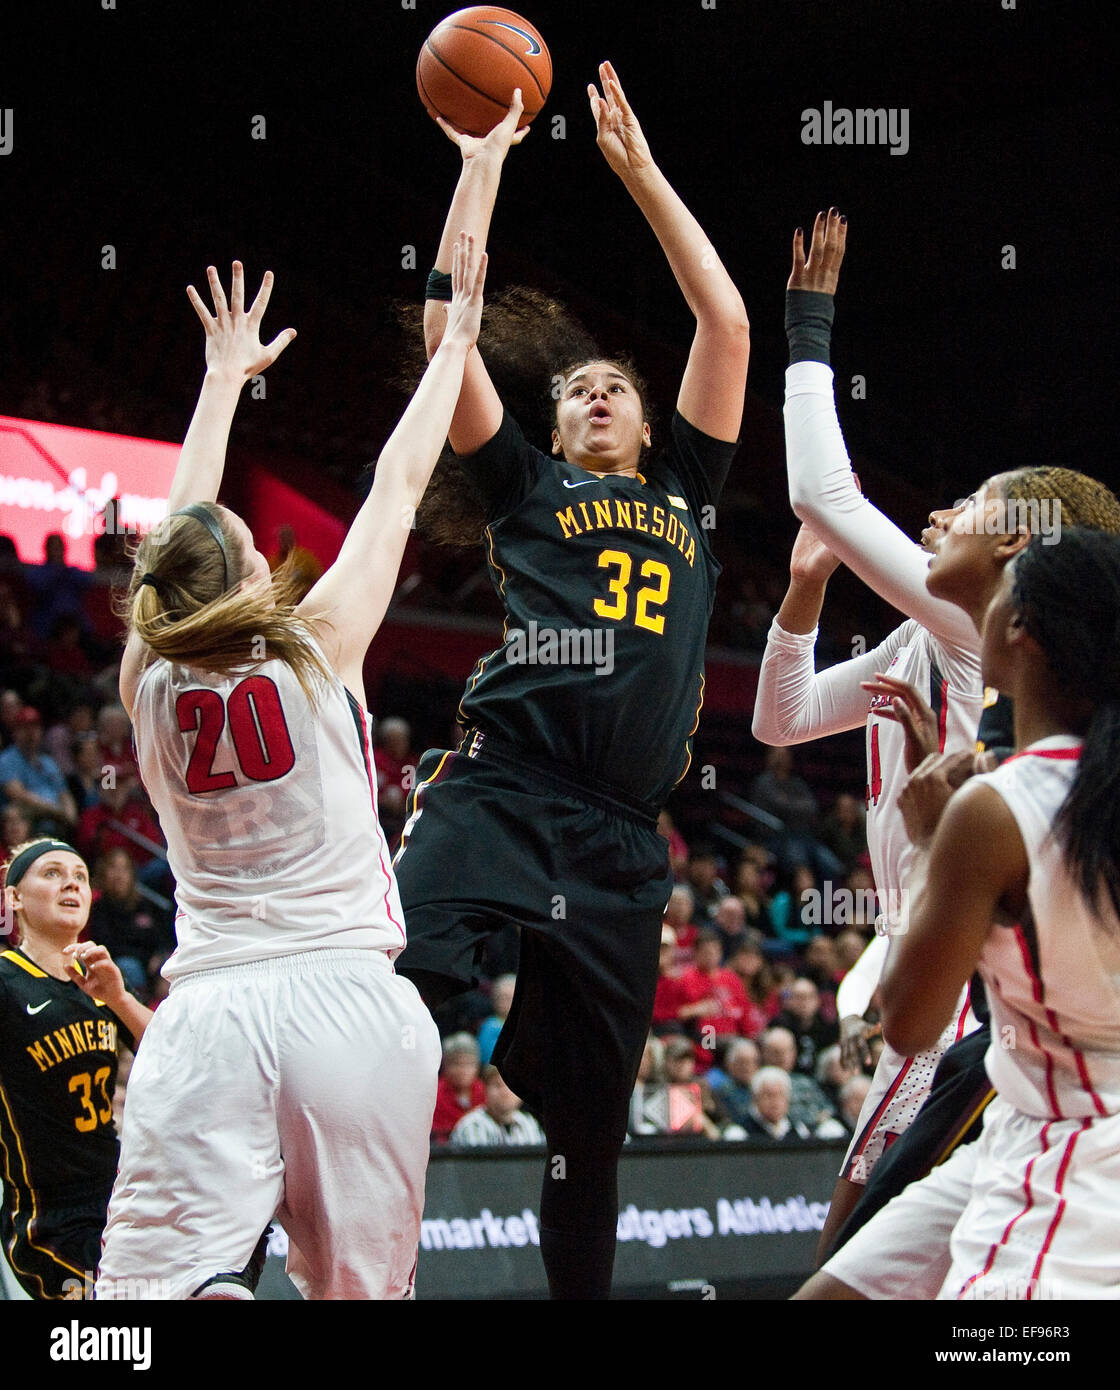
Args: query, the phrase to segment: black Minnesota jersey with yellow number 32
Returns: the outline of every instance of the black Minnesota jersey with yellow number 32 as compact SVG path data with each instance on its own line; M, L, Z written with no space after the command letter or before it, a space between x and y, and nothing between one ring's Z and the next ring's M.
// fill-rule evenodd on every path
M720 573L714 503L735 449L677 413L645 475L600 477L535 449L504 416L461 460L506 609L502 645L463 696L464 724L664 802L692 758Z

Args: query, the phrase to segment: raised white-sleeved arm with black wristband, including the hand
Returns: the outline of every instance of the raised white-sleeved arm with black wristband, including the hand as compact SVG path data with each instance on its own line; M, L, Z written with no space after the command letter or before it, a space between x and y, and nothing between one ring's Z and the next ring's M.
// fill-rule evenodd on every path
M809 259L793 234L787 286L791 366L785 374L785 453L789 502L843 564L907 617L967 652L980 651L971 619L925 588L928 556L860 493L832 395L832 302L848 240L848 222L818 213Z

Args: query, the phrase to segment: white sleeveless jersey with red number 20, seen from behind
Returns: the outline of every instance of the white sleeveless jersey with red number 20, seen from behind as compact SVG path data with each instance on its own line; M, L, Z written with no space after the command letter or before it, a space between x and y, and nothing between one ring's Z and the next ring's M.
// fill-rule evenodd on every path
M336 676L317 689L313 709L281 660L143 673L136 753L176 883L168 980L322 947L403 949L371 720Z

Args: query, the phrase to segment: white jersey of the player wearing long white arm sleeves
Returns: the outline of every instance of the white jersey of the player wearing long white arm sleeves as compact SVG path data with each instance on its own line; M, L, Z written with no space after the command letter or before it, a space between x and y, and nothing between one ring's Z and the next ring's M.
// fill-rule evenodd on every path
M892 652L884 674L909 681L930 702L938 717L941 751L975 748L984 706L980 656L945 646L914 619L896 628L884 645ZM877 713L884 705L889 701L874 695L867 713L867 849L882 910L893 919L903 902L902 862L910 848L898 799L910 774L906 734L900 724Z

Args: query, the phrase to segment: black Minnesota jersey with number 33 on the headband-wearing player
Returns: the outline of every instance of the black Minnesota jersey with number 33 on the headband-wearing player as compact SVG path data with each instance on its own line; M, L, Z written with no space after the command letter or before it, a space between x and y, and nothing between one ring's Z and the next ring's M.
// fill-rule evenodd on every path
M117 1175L117 1042L107 1005L0 952L0 1161L10 1215L106 1194Z

